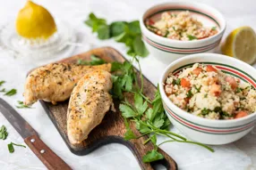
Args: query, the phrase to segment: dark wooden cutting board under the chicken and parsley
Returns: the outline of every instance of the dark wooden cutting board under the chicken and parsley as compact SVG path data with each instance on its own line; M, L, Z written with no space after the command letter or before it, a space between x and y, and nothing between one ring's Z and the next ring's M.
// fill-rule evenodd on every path
M91 50L87 53L81 53L75 55L73 57L64 59L58 62L69 62L76 63L78 59L88 60L90 61L90 55L97 55L99 58L103 59L107 62L119 61L124 62L125 59L122 54L115 51L115 49L111 47L102 47ZM138 78L140 79L140 78ZM148 96L150 99L153 99L154 94L156 92L156 87L149 82L149 80L144 77L144 94ZM130 100L132 100L132 96L127 95ZM154 169L154 166L157 164L161 164L166 166L167 169L175 170L177 169L177 165L175 160L168 156L166 152L158 149L164 155L164 159L153 162L151 164L145 164L142 162L142 157L149 151L153 149L153 144L148 142L146 145L142 143L148 139L148 136L141 137L140 139L131 140L129 142L124 141L123 136L126 132L124 126L124 119L121 115L120 110L118 109L119 102L115 100L115 109L116 112L108 111L106 116L100 125L98 125L95 129L91 131L87 140L83 141L81 144L73 145L69 142L67 137L67 125L66 125L66 115L68 108L68 101L59 102L57 105L53 105L50 102L40 101L43 105L44 109L47 111L48 117L54 123L56 129L61 134L66 143L69 150L71 150L76 155L87 155L91 151L98 149L100 146L105 145L107 143L121 143L128 147L133 155L137 158L141 169ZM131 128L134 134L137 136L140 135L140 132L136 130L135 125L131 123Z

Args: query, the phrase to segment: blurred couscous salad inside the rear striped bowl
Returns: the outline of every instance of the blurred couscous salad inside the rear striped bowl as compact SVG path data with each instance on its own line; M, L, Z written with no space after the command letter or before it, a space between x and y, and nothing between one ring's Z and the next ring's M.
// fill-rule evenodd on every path
M158 36L181 41L203 39L218 33L217 27L204 27L189 11L163 12L160 20L154 22L149 18L145 25Z

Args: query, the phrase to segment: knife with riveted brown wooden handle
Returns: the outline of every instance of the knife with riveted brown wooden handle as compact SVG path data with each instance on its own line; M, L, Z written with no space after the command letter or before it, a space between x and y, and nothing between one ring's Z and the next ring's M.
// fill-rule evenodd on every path
M30 126L21 115L13 109L6 101L0 98L0 111L4 117L13 125L14 129L21 134L24 142L30 147L36 156L50 170L71 170L63 159L47 147L38 136L38 133Z

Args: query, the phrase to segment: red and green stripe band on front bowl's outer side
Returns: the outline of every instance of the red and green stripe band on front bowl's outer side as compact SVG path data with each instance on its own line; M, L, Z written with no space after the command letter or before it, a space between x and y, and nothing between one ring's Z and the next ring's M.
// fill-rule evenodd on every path
M182 125L186 125L186 126L189 126L191 127L192 129L196 129L200 132L205 132L205 133L209 133L209 134L234 134L234 133L238 133L238 132L241 132L241 131L244 131L250 127L252 127L255 123L255 121L252 121L252 123L250 123L249 125L244 125L242 127L239 127L239 128L233 128L233 129L230 129L230 130L218 130L216 129L215 127L210 127L210 128L204 128L204 127L201 127L201 126L198 126L198 125L194 125L194 124L191 124L189 123L188 121L184 120L183 117L178 117L176 116L176 114L174 113L174 111L171 111L167 106L166 106L166 103L163 102L164 104L164 108L166 109L166 112L171 116L173 117L177 122L179 122L180 124ZM226 127L226 129L228 129L228 127Z

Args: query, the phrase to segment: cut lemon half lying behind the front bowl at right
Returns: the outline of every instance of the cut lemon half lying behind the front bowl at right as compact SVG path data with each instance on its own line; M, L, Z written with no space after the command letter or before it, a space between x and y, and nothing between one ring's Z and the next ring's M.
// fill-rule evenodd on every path
M256 61L256 34L250 27L233 30L221 46L222 53L252 64Z

